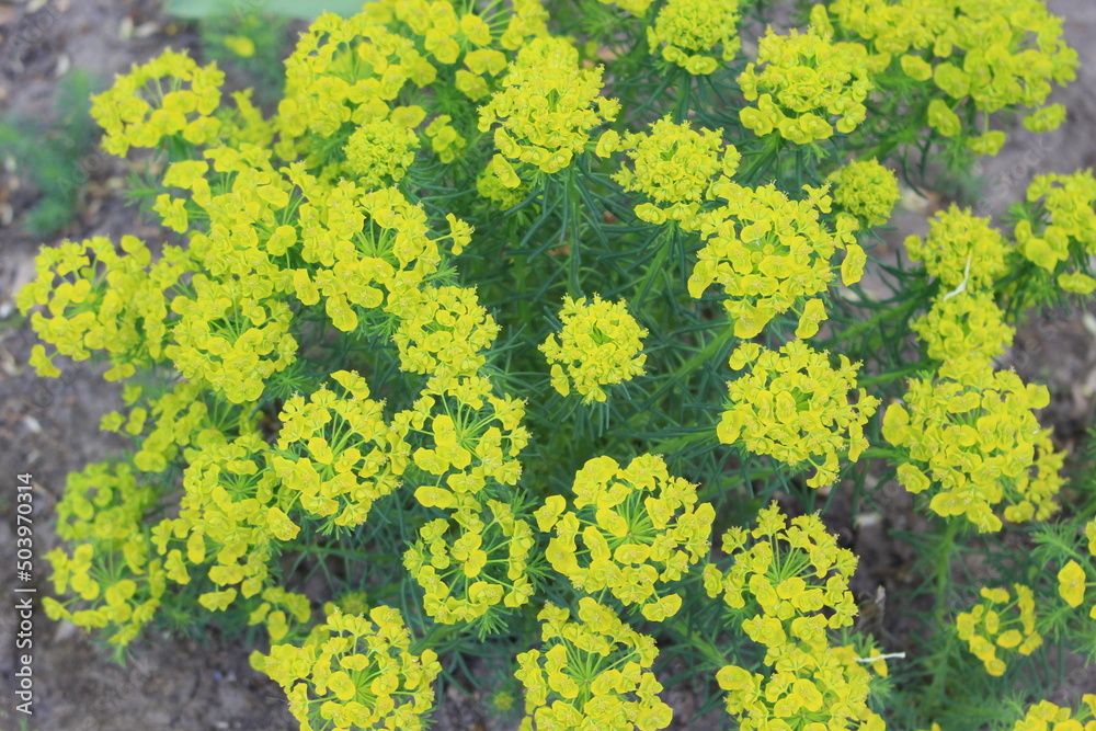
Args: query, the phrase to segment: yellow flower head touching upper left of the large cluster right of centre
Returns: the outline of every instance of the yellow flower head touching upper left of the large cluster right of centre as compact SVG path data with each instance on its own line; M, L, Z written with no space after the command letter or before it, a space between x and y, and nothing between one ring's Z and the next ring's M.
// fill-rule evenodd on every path
M627 151L635 170L621 167L613 180L651 198L636 206L636 216L649 224L693 221L711 185L729 182L741 158L732 145L722 144L721 129L696 132L670 116L652 123L649 133L629 133L624 139L606 132L597 147L604 153Z

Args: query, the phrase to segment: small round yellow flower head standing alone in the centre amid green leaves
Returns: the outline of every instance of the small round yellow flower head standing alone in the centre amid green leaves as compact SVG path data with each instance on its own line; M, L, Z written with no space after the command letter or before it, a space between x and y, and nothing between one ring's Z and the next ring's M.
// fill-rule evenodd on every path
M624 301L610 302L594 295L563 299L562 330L548 335L540 351L551 366L551 385L567 396L574 390L583 403L605 401L603 386L643 375L647 330L628 313Z

